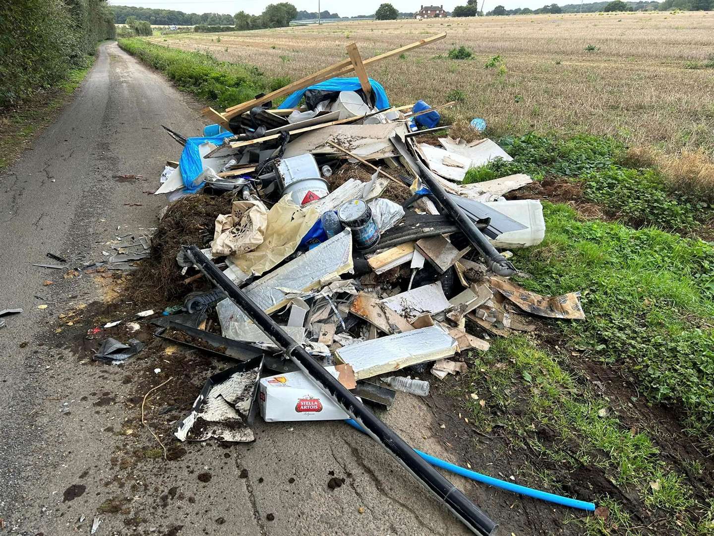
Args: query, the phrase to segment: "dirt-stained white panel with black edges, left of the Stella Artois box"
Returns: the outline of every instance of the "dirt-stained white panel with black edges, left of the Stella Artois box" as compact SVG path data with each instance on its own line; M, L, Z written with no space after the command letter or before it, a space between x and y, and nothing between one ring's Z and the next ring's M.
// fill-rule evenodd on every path
M256 357L209 377L174 435L181 441L211 437L233 442L255 440L248 417L261 368L262 357Z

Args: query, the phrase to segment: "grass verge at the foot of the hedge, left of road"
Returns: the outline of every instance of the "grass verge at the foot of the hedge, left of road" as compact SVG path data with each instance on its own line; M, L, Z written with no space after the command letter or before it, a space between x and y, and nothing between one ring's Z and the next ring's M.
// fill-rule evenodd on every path
M71 69L54 89L42 91L19 106L0 110L0 172L9 168L29 142L54 121L56 112L69 100L94 65L87 56L85 66Z

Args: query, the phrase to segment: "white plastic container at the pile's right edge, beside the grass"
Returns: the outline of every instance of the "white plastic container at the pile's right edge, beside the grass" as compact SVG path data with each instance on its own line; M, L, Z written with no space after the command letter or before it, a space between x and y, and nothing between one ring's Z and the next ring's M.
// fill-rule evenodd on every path
M545 237L545 219L543 219L543 205L540 204L538 199L491 201L484 204L528 227L520 231L500 234L495 239L489 239L493 247L500 249L518 249L521 247L535 246L543 242L543 237Z

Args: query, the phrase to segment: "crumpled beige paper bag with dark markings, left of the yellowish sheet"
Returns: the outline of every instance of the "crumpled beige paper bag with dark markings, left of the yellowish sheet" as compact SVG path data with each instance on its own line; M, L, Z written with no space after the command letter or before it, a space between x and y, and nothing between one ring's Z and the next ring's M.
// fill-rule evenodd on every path
M251 252L263 243L268 209L262 201L234 201L231 214L219 214L213 232L211 253L220 257Z

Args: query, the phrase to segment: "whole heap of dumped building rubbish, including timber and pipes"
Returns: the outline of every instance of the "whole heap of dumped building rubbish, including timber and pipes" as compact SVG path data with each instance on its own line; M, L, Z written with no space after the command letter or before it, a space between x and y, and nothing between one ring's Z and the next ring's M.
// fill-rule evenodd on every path
M232 201L215 214L212 237L186 244L171 268L210 289L152 322L157 336L232 362L208 377L178 423L179 440L253 441L258 412L267 422L349 420L486 535L496 523L434 470L441 460L406 445L373 410L388 411L396 390L426 396L430 381L413 377L463 374L466 352L532 331L534 317L584 316L577 293L543 297L509 279L518 274L510 250L545 233L540 202L503 198L531 178L461 184L471 167L510 157L489 139L445 136L441 106L391 106L366 76L373 61L443 36L366 61L350 45L350 59L286 88L223 114L206 109L216 124L201 137L166 129L183 149L156 194ZM358 76L339 77L352 70ZM134 340L111 339L98 358L139 351Z

